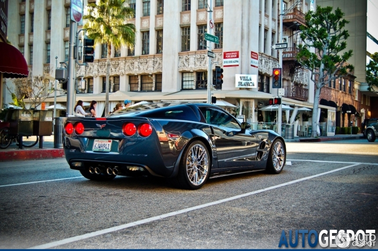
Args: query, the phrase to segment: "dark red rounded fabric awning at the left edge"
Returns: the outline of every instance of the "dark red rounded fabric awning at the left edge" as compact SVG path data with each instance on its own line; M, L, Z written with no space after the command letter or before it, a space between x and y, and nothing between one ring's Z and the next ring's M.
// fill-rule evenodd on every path
M28 77L28 64L21 52L12 45L0 43L0 72L4 78Z

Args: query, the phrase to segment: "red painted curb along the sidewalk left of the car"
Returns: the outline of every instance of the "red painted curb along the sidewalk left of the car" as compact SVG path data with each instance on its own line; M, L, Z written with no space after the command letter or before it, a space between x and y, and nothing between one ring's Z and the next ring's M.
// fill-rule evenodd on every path
M63 149L25 149L0 152L0 161L63 158Z

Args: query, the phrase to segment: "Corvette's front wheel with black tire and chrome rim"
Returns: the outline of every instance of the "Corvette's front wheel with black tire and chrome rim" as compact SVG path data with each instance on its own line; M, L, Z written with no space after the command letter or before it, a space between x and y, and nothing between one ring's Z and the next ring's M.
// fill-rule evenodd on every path
M276 160L276 161L274 161ZM266 171L271 174L279 174L286 162L285 144L280 139L274 140L266 162Z

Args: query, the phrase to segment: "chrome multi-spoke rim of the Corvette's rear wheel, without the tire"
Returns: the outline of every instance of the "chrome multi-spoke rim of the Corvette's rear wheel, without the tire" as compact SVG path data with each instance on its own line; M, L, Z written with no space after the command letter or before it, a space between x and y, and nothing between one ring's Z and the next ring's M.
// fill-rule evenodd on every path
M201 185L206 180L208 171L208 152L203 145L193 145L186 159L186 173L189 181L195 186Z

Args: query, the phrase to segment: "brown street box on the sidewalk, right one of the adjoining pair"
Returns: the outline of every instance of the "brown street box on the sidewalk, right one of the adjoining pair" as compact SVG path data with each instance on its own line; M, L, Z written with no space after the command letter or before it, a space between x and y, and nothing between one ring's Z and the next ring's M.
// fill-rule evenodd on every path
M33 135L50 136L53 134L53 111L34 110Z

